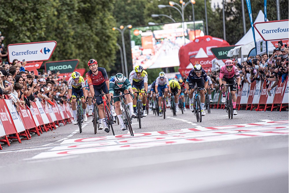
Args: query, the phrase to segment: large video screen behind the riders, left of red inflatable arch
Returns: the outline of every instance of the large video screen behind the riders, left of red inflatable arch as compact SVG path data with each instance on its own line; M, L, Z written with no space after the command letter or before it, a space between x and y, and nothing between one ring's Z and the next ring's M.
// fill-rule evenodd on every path
M204 36L203 21L166 23L131 28L133 67L144 69L179 66L179 49L197 37Z

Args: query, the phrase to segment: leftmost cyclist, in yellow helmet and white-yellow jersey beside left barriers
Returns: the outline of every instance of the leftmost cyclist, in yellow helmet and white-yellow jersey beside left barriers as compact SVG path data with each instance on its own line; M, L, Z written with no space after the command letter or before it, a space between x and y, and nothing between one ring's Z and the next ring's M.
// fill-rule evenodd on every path
M76 98L77 95L81 97L82 102L82 110L83 110L83 121L87 121L86 116L86 103L84 101L84 97L86 98L86 92L85 92L85 82L82 76L80 76L79 72L72 72L71 77L68 80L68 97ZM69 100L69 103L71 104L72 112L73 112L73 124L77 124L76 119L76 99Z

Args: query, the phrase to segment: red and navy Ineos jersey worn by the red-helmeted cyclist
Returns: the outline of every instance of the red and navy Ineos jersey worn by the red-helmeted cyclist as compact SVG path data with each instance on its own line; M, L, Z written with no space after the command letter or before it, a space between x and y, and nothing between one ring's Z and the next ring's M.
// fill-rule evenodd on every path
M90 85L101 85L102 83L108 81L108 74L106 73L105 68L98 67L98 74L92 74L92 71L89 70L86 72L86 79L88 86Z

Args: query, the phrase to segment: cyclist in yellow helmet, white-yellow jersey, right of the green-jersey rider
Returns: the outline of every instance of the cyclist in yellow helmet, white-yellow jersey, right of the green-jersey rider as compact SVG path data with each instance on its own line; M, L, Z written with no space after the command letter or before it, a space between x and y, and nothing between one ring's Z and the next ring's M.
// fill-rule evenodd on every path
M132 90L137 92L138 89L142 92L142 115L147 116L147 111L145 106L147 104L147 72L142 68L142 66L136 66L133 71L129 74L129 82L131 83ZM134 113L136 113L136 95L134 93ZM134 118L134 117L133 117Z

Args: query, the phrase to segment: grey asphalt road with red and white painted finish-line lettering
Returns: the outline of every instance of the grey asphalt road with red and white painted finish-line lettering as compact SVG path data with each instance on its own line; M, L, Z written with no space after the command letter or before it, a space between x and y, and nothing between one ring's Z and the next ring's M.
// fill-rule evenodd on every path
M272 121L270 121L272 120ZM288 192L288 112L187 110L133 120L135 136L91 118L0 151L0 192ZM221 126L230 125L230 126Z

